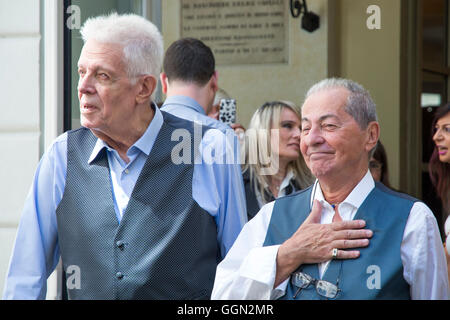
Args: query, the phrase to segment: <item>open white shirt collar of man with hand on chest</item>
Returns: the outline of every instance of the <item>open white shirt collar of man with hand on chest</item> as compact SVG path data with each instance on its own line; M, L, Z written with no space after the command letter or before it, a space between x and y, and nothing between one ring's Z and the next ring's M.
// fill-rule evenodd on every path
M367 196L369 195L369 193L372 191L373 188L375 188L375 181L373 180L372 174L370 173L370 171L367 170L367 173L364 175L364 177L361 179L361 181L359 181L359 183L356 185L356 187L353 188L353 190L350 192L350 194L347 196L347 198L345 198L345 200L342 201L341 203L346 203L346 204L353 206L356 209L359 209L359 207L364 202L364 200L367 198ZM311 206L312 206L312 201L314 199L317 199L322 203L326 202L318 180L316 180L316 183L314 184L313 191L314 190L315 190L315 195L313 195L311 197Z

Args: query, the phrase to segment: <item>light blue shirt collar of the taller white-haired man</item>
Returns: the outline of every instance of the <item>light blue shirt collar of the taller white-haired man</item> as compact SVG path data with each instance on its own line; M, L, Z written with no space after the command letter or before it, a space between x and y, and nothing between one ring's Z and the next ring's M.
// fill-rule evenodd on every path
M152 121L150 121L150 124L145 130L144 134L130 147L130 149L128 149L127 153L136 148L145 153L147 156L150 154L153 144L156 141L156 137L158 136L159 130L161 129L163 124L163 116L159 108L154 104L152 104L151 107L155 111ZM97 139L94 149L91 152L91 156L89 157L88 163L91 164L92 161L94 161L98 157L99 153L104 148L112 150L112 148L108 146L105 141L103 141L102 139Z

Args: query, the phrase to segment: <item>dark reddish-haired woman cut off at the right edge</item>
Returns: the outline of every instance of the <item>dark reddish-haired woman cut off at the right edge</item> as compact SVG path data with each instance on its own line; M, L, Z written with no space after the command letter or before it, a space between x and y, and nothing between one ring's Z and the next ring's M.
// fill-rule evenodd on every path
M442 201L445 222L447 267L450 279L450 103L441 106L433 120L433 141L436 144L429 162L431 182Z

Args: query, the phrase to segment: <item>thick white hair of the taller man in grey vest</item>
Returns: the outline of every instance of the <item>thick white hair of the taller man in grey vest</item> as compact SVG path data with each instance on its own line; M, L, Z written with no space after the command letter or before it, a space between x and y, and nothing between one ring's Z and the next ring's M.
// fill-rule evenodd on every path
M151 75L158 80L164 54L163 39L150 21L135 14L111 13L89 18L80 33L84 43L93 39L121 45L130 78Z

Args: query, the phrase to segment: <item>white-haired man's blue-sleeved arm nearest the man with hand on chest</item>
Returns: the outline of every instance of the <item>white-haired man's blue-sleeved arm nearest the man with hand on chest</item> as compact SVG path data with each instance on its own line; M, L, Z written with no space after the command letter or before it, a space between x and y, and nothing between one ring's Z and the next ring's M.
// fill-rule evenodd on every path
M194 168L193 197L214 217L224 258L247 222L239 142L231 129L226 135L210 129L201 141L200 150L202 163Z

